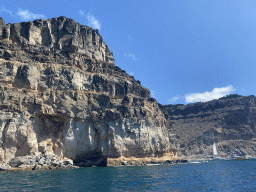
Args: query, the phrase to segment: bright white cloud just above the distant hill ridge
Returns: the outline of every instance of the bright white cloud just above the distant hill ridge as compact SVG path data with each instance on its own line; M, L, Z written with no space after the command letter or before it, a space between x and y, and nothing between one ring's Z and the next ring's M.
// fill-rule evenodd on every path
M193 102L206 102L211 101L214 99L219 99L223 96L226 96L230 94L230 92L234 91L232 85L229 85L227 87L221 87L221 88L214 88L211 92L204 92L204 93L193 93L185 95L186 103L193 103Z

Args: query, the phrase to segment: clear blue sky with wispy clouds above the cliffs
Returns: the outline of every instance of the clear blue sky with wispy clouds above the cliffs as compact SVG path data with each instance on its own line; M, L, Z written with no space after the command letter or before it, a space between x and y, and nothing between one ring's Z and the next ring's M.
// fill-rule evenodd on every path
M6 24L65 16L99 29L161 104L256 95L254 0L2 0Z

